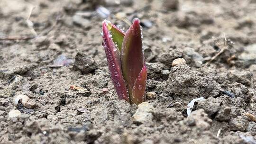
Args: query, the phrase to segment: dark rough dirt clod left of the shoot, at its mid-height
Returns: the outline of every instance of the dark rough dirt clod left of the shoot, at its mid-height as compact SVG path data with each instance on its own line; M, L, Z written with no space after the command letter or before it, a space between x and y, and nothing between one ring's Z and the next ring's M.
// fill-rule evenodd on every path
M90 56L77 52L73 68L80 70L82 74L87 74L94 71L97 65Z

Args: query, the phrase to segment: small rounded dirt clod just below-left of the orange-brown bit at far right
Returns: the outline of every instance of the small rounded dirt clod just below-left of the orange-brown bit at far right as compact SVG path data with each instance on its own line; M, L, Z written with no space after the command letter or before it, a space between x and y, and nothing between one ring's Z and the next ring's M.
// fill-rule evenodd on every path
M245 117L235 117L231 118L229 121L229 128L232 131L246 131L248 127L248 120Z

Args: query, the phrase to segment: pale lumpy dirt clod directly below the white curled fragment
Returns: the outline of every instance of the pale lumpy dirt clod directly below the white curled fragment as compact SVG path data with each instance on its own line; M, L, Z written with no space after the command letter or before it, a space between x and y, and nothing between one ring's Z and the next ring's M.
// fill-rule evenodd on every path
M196 126L202 131L209 130L212 123L212 120L208 117L203 109L192 111L191 115L186 121L189 126Z

